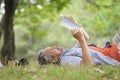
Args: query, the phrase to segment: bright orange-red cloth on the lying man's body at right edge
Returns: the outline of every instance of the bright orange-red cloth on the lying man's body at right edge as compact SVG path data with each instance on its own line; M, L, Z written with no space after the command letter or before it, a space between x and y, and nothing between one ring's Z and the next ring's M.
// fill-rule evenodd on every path
M99 51L103 53L104 55L110 56L120 62L120 54L118 53L116 44L112 44L111 47L107 47L107 48L99 48L99 47L94 47L94 46L89 46L89 48Z

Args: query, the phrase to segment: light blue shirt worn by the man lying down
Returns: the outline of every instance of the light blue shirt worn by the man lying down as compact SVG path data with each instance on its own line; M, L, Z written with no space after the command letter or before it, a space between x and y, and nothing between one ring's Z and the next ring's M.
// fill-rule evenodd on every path
M120 62L109 56L105 56L99 51L93 49L89 49L89 51L93 57L94 64L120 65ZM82 60L82 49L74 47L62 53L60 57L60 64L79 66L81 60Z

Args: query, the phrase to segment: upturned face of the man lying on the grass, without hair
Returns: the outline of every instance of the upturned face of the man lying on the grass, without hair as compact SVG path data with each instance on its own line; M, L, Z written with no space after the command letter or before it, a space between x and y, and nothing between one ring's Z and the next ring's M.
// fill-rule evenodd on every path
M57 47L57 46L53 46L53 47L45 48L44 49L44 54L46 56L51 56L52 57L52 60L50 62L56 63L56 62L58 62L62 51L63 51L63 48Z

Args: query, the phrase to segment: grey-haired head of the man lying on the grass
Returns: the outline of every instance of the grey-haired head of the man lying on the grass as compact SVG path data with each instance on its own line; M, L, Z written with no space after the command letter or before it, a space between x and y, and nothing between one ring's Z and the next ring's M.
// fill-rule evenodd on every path
M47 47L41 50L38 56L39 64L44 65L47 63L57 63L62 51L63 48L57 46Z

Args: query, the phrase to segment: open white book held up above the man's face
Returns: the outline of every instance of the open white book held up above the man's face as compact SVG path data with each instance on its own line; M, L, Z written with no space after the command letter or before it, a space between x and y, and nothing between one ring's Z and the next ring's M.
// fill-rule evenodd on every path
M72 19L70 19L67 16L60 15L60 18L62 19L61 25L69 30L71 29L79 29L80 26L75 23Z

